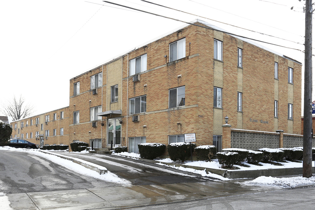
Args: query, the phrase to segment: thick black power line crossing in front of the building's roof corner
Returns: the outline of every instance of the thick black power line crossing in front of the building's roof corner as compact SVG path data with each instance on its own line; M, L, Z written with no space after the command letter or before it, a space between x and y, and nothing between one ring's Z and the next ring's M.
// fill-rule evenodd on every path
M253 39L253 38L249 38L249 37L244 37L244 36L241 36L241 35L237 35L237 34L234 34L234 33L230 33L230 32L227 32L227 31L221 31L221 30L214 29L214 28L210 28L210 27L207 27L207 26L200 26L200 25L195 24L195 23L190 23L190 22L186 22L186 21L184 21L184 20L179 20L179 19L167 17L167 16L160 15L160 14L155 14L155 13L148 12L148 11L144 11L144 10L141 10L141 9L135 9L135 8L132 8L132 7L128 7L128 6L125 6L125 5L121 5L121 4L117 4L117 3L113 3L113 2L109 2L109 1L103 1L103 2L110 3L110 4L114 4L114 5L121 6L121 7L125 7L125 8L129 8L129 9L134 9L134 10L137 10L137 11L140 11L140 12L144 12L144 13L148 13L148 14L153 14L153 15L156 15L156 16L159 16L159 17L163 17L163 18L167 18L167 19L171 19L171 20L183 22L183 23L186 23L186 24L189 24L189 25L193 25L193 26L198 26L198 27L202 27L202 28L206 28L206 29L210 29L210 30L214 30L214 31L220 31L220 32L223 32L223 33L232 35L232 36L242 37L242 38L246 38L246 39L249 39L249 40L254 40L254 41L257 41L257 42L266 43L266 44L271 44L271 45L275 45L275 46L283 47L283 48L288 48L288 49L294 49L294 50L298 50L298 51L301 51L301 52L302 52L302 50L300 50L300 49L289 48L289 47L285 47L285 46L282 46L282 45L278 45L278 44L274 44L274 43L269 43L269 42L261 41L261 40L258 40L258 39Z

